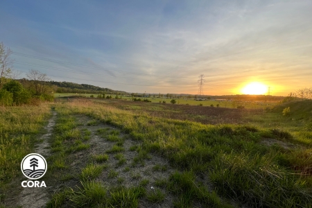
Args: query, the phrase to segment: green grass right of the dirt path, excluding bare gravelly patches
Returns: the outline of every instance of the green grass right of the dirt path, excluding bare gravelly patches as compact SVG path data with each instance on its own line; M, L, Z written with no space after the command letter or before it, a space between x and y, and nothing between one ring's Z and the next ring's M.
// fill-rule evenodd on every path
M138 180L139 187L103 187L100 182L93 181L98 177L97 168L87 164L77 174L80 174L80 180L86 178L83 183L78 189L56 193L51 200L53 205L137 207L139 200L145 198L162 206L164 193L168 193L175 198L174 207L311 207L311 103L285 103L267 112L246 112L247 116L242 115L241 123L217 125L142 113L142 109L164 109L164 114L175 114L174 110L162 107L165 105L142 105L140 112L136 112L129 110L131 102L124 103L128 105L124 106L125 110L121 106L115 107L114 102L59 105L62 110L51 142L54 150L49 158L51 171L69 170L67 157L71 153L68 149L84 144L83 137L88 133L76 130L76 121L71 116L74 114L85 114L118 128L99 129L97 133L102 137L117 138L123 132L137 142L137 146L129 148L137 152L132 166L144 164L146 159L152 159L150 155L153 153L165 157L171 166L155 164L150 171L152 175L153 171L164 172L168 168L179 171L155 180L153 186L157 189L148 189L146 193L148 181L139 182L141 174L130 171L129 167L123 171L130 171L130 177ZM291 115L286 117L281 112L288 106ZM270 139L281 143L269 145L264 142ZM117 159L119 166L125 162L123 140L114 142L116 144L107 153L116 153L112 157ZM92 159L96 162L94 157ZM66 176L63 180L73 179L70 175L73 174L69 173L68 179ZM116 180L119 185L124 182L114 169L108 171L107 178ZM202 182L206 178L209 178L213 191Z

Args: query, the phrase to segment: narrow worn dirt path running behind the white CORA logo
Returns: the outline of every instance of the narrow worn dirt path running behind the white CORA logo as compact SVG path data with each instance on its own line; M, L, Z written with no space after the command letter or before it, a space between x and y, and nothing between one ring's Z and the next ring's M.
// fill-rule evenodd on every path
M53 111L53 116L49 120L48 125L44 128L47 132L45 135L40 137L40 142L37 144L33 153L38 153L45 158L50 155L50 144L49 137L52 135L52 130L55 125L56 120L56 112ZM48 167L49 168L49 167ZM23 191L17 196L17 205L21 207L44 207L46 202L49 201L48 194L45 190L46 188L24 188Z

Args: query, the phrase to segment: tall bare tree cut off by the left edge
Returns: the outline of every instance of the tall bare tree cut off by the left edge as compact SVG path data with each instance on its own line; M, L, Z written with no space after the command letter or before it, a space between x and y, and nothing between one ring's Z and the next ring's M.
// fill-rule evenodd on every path
M9 76L12 71L10 66L13 63L13 60L10 58L12 51L10 48L4 46L3 42L0 43L0 67L1 67L1 82L0 82L0 89L3 86L3 77Z

